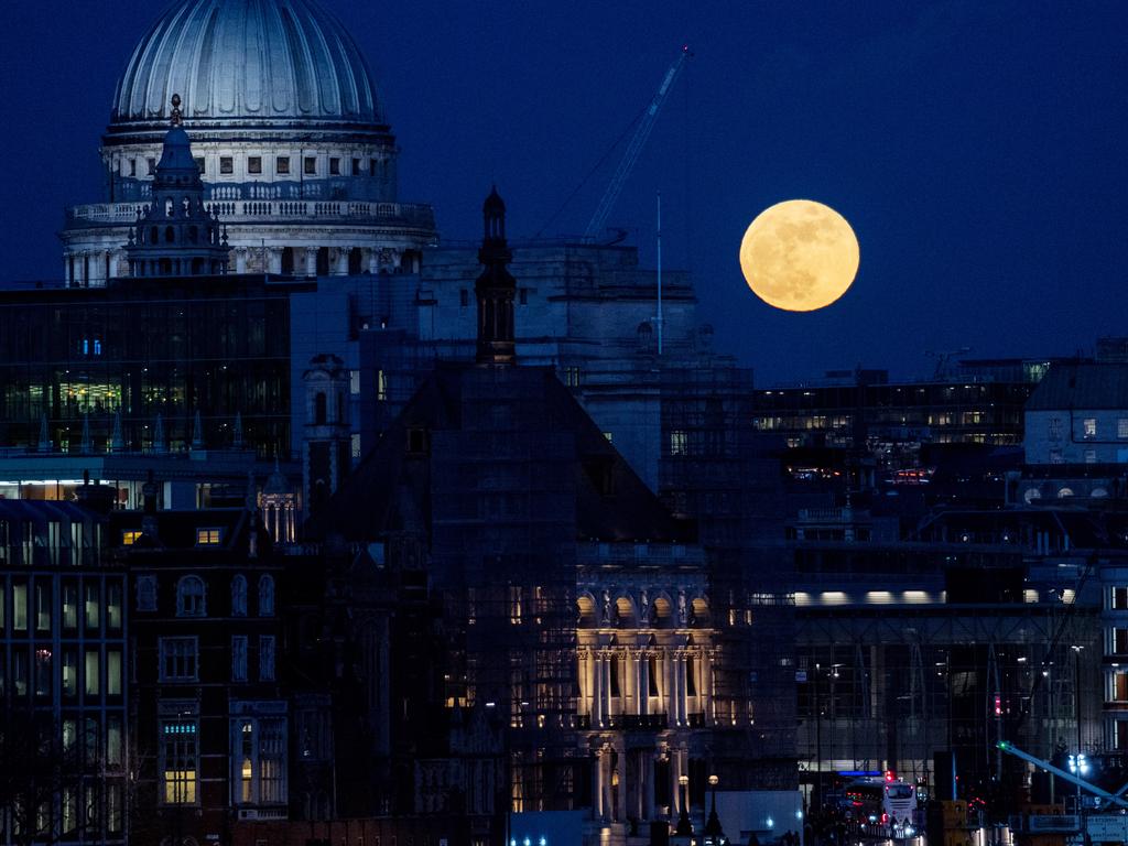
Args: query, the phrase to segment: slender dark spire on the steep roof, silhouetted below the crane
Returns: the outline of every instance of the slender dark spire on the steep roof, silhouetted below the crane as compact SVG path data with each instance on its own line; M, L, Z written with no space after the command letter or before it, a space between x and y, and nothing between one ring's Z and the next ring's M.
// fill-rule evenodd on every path
M513 332L513 298L517 280L506 265L513 254L505 241L505 203L493 186L482 206L483 238L478 262L485 270L474 283L478 300L479 364L512 364L517 361Z

